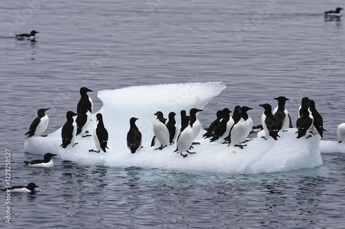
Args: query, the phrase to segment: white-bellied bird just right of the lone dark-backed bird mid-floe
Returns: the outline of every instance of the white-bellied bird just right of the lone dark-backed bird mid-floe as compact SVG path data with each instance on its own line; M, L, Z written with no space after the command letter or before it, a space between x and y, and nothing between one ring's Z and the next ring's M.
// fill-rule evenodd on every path
M163 113L161 111L157 111L155 113L155 116L157 116L157 119L153 124L153 133L155 133L155 136L159 141L159 144L161 145L156 149L161 150L169 144L170 135L169 130L165 124L166 118L163 117Z

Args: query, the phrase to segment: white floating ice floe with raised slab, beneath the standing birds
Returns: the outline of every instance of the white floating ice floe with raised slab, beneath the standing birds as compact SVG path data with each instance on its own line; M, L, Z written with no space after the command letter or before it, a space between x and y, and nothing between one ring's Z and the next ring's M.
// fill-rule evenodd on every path
M97 113L102 113L104 125L109 133L107 153L89 152L89 149L95 149L92 137L81 138L79 135L76 138L79 144L74 147L68 146L66 149L61 148L61 128L47 137L28 138L24 143L24 149L28 153L40 155L47 152L56 153L63 160L85 164L142 166L227 174L291 171L322 165L319 135L308 139L297 139L296 129L279 133L281 138L277 141L253 138L246 143L244 149L204 140L201 138L204 131L201 131L195 140L200 144L195 145L193 149L197 153L185 158L173 152L176 145L167 146L161 151L154 151L155 147L150 147L156 111L162 111L166 118L170 111L174 111L177 113L178 123L181 109L185 109L187 113L193 107L202 109L225 88L226 86L221 82L207 82L102 90L97 96L103 102L103 107L92 114L92 122L88 130L92 133L96 122L95 116ZM134 154L130 153L126 146L131 117L139 118L136 124L143 135L144 146Z

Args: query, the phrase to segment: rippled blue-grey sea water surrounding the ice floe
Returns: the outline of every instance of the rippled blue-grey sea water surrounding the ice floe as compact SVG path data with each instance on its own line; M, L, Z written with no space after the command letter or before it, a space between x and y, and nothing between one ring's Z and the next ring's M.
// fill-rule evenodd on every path
M35 182L41 192L1 197L1 228L344 228L345 157L322 154L317 168L258 175L182 173L106 167L55 159L23 166L23 133L50 107L46 133L75 110L79 88L223 81L200 113L303 96L324 117L324 140L337 140L344 112L344 18L324 19L342 1L1 1L0 186ZM344 6L342 6L344 8ZM37 30L36 42L14 34ZM295 115L293 122L295 123ZM10 224L6 208L10 206Z

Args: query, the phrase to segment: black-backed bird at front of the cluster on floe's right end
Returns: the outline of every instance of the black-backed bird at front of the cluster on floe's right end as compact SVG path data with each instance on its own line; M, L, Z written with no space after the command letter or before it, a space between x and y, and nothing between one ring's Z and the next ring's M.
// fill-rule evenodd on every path
M297 127L297 138L302 138L306 136L306 138L311 137L311 135L307 135L309 131L311 131L311 127L313 127L313 116L311 115L311 111L309 110L309 104L304 103L302 105L302 116L297 118L296 127Z

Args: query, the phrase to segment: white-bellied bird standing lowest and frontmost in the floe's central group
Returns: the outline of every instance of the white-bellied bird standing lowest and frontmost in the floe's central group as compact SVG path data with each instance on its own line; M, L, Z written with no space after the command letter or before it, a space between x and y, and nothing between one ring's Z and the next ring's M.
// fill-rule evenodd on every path
M193 128L190 127L190 116L184 116L181 120L181 133L177 137L177 151L183 156L187 157L188 154L183 154L185 151L187 153L195 153L190 152L190 146L193 144L194 140L194 132Z

